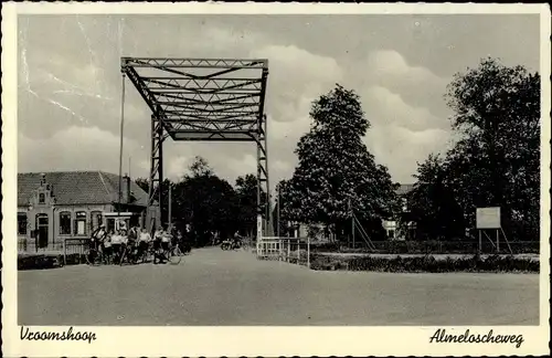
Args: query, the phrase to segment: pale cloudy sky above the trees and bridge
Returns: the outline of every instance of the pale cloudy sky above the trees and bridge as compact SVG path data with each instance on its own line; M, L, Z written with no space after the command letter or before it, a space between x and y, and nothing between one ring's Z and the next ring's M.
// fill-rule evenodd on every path
M363 138L396 182L452 141L453 75L492 56L539 70L539 15L20 15L18 170L118 172L121 56L268 59L270 181L289 178L312 101L337 83L371 124ZM124 171L147 177L150 112L128 82ZM256 172L254 143L168 139L164 176L195 156L234 182Z

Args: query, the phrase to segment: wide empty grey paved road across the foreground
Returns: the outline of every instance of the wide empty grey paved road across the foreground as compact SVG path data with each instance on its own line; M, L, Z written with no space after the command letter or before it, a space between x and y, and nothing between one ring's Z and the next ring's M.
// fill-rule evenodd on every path
M178 266L19 273L22 325L538 325L533 274L315 272L195 250Z

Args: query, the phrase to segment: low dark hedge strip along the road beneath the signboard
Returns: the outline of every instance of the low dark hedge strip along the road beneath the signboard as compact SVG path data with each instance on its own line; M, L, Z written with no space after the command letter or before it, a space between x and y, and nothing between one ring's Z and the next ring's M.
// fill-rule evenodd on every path
M481 257L479 255L465 257L446 257L436 260L432 255L425 256L395 256L395 257L332 257L314 254L310 260L310 268L319 271L348 270L348 271L373 271L373 272L527 272L538 273L539 261L529 257L516 257L512 255L491 255Z

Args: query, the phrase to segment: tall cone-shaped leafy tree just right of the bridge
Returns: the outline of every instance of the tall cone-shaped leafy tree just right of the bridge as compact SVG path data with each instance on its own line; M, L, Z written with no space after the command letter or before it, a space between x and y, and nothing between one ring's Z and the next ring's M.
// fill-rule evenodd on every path
M343 234L353 208L359 219L381 225L392 211L394 186L362 143L370 123L359 96L337 85L312 104L310 117L310 131L295 151L298 166L282 188L285 215Z

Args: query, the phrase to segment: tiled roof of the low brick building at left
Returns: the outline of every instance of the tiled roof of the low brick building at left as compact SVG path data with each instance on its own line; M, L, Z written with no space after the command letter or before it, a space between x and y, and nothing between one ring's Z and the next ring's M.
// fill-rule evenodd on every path
M119 176L104 171L44 172L52 187L56 204L107 204L118 200ZM18 173L18 206L29 204L34 190L40 187L41 172ZM147 207L148 193L130 180L132 204Z

